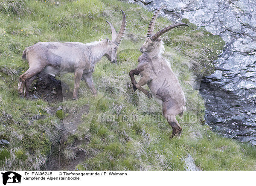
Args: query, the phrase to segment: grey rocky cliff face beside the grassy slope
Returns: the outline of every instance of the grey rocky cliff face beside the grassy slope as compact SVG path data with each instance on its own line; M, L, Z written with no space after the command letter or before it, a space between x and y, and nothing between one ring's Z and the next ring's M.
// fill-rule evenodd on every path
M165 4L162 16L188 18L226 42L215 73L204 77L207 123L226 137L256 145L256 1L129 0L149 10Z

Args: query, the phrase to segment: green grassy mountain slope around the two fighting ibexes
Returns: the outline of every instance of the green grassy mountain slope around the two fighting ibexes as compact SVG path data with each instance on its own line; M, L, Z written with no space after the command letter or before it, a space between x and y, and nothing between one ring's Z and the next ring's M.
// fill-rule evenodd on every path
M19 3L17 3L19 2ZM79 170L184 170L182 158L191 154L202 170L255 170L256 149L215 135L204 123L204 102L191 85L194 74L209 74L223 41L204 29L173 29L164 35L166 52L187 99L187 111L179 119L180 139L169 139L171 127L162 118L150 121L161 107L153 99L131 90L128 72L137 65L152 12L116 0L78 1L4 0L0 3L0 169L50 169L50 160L61 169ZM99 95L93 97L81 81L79 100L48 103L20 99L18 76L28 69L21 60L25 47L38 41L87 43L108 36L127 16L126 35L119 47L119 63L106 58L96 65L93 81ZM184 20L187 21L187 20ZM169 25L163 17L156 29ZM62 80L73 90L73 74ZM54 111L62 105L64 119ZM150 114L148 112L154 111ZM81 113L79 119L76 113ZM105 115L104 115L105 114ZM114 119L104 120L105 116ZM132 120L140 116L145 120ZM32 119L34 118L34 119ZM188 119L189 118L189 119ZM73 134L61 123L79 121ZM59 159L58 159L58 158ZM48 158L48 159L47 159ZM49 161L47 161L49 160ZM52 162L52 164L55 161ZM75 162L75 163L74 163ZM56 166L56 165L55 165Z

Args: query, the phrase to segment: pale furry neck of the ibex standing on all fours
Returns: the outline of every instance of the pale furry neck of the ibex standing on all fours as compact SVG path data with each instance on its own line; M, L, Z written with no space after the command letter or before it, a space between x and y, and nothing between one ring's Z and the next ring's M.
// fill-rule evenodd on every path
M105 53L107 52L108 44L106 40L94 41L86 45L92 52L91 57L92 57L93 64L96 64L98 61L100 61L103 55L105 55Z

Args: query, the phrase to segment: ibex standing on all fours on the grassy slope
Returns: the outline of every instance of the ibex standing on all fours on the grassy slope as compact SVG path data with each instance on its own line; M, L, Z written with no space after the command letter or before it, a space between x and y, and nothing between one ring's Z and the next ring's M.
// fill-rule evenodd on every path
M126 27L125 13L122 11L122 26L118 34L113 25L109 22L108 24L112 30L112 41L106 38L89 44L79 42L38 42L27 47L23 52L22 58L28 61L29 69L19 78L18 92L23 94L25 84L24 92L27 97L30 84L41 71L52 76L73 72L75 73L73 99L77 99L81 77L84 78L93 95L96 95L97 91L92 80L94 66L104 55L111 63L116 62L117 48L122 41Z

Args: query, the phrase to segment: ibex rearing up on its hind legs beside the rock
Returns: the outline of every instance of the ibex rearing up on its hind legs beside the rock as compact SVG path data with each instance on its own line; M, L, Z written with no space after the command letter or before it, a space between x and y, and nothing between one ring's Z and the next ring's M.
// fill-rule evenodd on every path
M148 26L148 33L146 41L140 48L140 55L137 69L131 70L129 75L133 84L134 91L139 89L145 93L149 99L152 95L154 99L163 107L163 116L167 119L169 125L172 126L172 135L170 138L177 136L180 137L182 128L176 120L179 114L182 116L186 110L186 100L180 83L173 73L169 61L162 57L164 46L161 35L168 32L177 26L188 26L184 23L177 23L174 25L166 26L153 35L154 24L161 9L161 6L154 13L150 24ZM140 81L137 83L134 75L140 75ZM145 90L142 86L148 84L149 91Z

